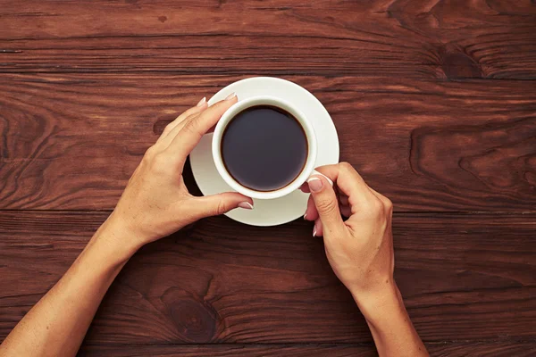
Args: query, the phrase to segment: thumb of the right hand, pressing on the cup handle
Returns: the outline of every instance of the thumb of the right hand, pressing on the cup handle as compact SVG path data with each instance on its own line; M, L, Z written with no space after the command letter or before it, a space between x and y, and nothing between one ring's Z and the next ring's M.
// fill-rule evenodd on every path
M324 235L327 232L339 230L343 221L339 212L339 201L331 183L320 175L314 175L307 179L307 184L322 222Z

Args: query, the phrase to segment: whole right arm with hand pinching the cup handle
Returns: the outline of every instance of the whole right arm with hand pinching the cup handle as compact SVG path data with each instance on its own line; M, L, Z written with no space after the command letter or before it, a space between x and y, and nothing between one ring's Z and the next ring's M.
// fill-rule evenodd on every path
M392 203L346 162L317 170L335 187L321 176L308 180L306 220L314 220L314 236L323 236L331 268L363 313L378 353L427 356L393 278Z

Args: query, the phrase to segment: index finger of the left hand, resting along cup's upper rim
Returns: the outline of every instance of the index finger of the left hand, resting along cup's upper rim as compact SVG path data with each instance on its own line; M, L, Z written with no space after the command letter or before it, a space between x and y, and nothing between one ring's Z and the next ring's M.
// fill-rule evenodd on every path
M195 120L188 121L184 128L173 137L172 143L168 146L168 150L173 157L179 158L180 164L183 164L188 154L196 147L206 131L211 129L222 118L223 113L237 101L237 96L233 95L229 99L208 107Z

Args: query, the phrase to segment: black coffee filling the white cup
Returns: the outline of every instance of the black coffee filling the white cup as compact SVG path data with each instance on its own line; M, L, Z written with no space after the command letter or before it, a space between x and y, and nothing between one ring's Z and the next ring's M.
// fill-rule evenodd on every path
M289 112L256 105L230 120L222 136L222 161L233 179L255 191L289 185L304 169L306 132Z

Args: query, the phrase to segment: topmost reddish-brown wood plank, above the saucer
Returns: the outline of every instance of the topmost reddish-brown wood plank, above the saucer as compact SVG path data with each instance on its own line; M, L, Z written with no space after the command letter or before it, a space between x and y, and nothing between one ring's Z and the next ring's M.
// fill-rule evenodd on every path
M33 0L1 11L0 71L536 79L528 0Z

